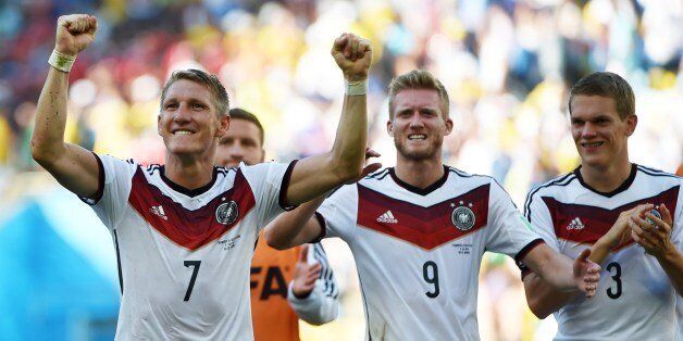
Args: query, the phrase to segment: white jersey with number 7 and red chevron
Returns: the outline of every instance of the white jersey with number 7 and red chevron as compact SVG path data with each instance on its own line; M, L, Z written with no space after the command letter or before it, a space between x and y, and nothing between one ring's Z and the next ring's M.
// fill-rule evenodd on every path
M98 163L101 195L89 203L116 247L116 339L252 340L249 265L260 227L283 212L294 163L215 167L196 190L163 166Z

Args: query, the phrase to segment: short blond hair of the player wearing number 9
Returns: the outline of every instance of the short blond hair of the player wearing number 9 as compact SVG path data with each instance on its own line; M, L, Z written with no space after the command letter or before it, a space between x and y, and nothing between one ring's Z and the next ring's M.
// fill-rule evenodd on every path
M442 100L442 112L444 118L448 117L448 92L444 85L434 77L429 71L413 70L407 74L402 74L394 79L389 84L389 119L394 119L394 102L396 94L406 89L424 89L434 90L438 93L438 98Z

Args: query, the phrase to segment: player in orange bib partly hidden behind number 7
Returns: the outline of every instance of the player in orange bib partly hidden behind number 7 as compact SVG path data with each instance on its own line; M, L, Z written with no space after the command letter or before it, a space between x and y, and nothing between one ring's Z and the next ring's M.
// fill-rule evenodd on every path
M216 164L262 163L263 126L243 109L229 110L231 128L221 138ZM278 251L259 236L251 261L251 320L254 340L299 340L299 318L312 325L334 320L338 289L320 242ZM287 285L288 283L288 285Z

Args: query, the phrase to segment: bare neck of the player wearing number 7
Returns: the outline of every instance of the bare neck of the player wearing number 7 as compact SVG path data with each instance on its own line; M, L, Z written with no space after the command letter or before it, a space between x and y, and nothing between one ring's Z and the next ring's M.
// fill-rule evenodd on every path
M213 179L213 159L185 160L176 155L166 154L164 176L187 189L201 188Z

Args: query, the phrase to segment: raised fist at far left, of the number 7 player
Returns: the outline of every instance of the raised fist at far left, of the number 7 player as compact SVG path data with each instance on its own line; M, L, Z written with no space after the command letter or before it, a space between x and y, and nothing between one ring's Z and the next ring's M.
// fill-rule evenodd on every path
M88 14L62 15L57 20L54 50L66 55L76 55L94 40L97 18Z

